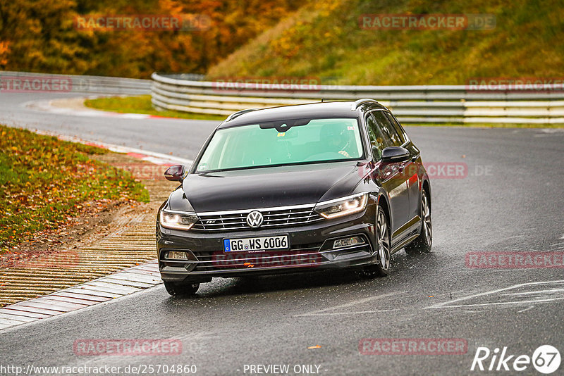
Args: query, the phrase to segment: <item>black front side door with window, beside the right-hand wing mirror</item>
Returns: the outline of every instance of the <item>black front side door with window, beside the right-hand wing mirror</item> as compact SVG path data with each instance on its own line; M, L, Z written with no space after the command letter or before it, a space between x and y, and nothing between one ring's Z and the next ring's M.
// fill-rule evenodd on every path
M367 130L369 134L370 144L372 146L372 155L374 162L381 161L381 155L387 146L396 146L386 131L386 127L390 126L386 116L381 111L372 111L367 115ZM387 123L387 124L386 124ZM407 183L403 177L404 163L386 163L378 164L374 171L373 177L380 180L384 189L389 194L390 199L390 228L392 234L398 231L405 222L407 222L407 214L409 211L409 196L407 193ZM392 236L392 238L394 235Z

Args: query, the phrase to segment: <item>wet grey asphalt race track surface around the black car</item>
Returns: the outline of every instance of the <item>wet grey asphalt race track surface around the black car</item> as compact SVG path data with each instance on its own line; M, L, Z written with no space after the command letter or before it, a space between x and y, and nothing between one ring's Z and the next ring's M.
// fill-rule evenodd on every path
M217 124L63 116L22 106L44 98L48 94L0 93L0 122L185 158L194 158ZM290 375L294 365L318 365L321 375L478 375L492 373L470 371L479 346L492 351L507 346L510 354L532 356L538 346L550 344L564 356L563 268L465 265L468 252L564 252L564 130L407 127L407 132L425 162L467 164L467 177L431 180L431 253L400 251L391 274L379 279L351 272L214 279L191 299L171 299L160 285L2 330L0 365L115 365L124 375L125 366L143 364L193 364L197 375L257 375L245 368L251 364L290 365ZM73 353L77 339L158 338L180 339L182 353ZM468 349L462 355L361 355L362 338L458 338ZM315 345L321 347L307 349ZM540 375L532 365L503 373ZM558 374L564 374L563 365Z

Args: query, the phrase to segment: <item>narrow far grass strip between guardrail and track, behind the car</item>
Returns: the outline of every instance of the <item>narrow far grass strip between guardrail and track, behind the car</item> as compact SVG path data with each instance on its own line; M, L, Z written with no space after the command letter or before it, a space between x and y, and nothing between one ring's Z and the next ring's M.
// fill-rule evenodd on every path
M164 116L165 118L195 119L195 120L225 120L223 115L207 115L205 113L184 113L180 111L157 111L153 108L150 95L142 96L111 96L107 98L87 99L85 106L102 111L118 113L144 113L147 115Z

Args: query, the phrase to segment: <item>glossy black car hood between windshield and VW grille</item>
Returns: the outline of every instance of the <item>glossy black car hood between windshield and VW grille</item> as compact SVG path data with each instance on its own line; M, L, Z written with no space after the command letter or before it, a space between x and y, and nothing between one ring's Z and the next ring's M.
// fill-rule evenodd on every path
M360 180L356 161L190 174L182 201L196 213L292 206L347 196ZM186 204L170 203L173 210Z

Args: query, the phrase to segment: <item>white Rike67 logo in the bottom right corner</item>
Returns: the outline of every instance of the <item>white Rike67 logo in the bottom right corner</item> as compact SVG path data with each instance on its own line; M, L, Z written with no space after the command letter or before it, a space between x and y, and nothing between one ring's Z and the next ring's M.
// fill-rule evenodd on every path
M515 356L506 346L500 351L491 351L487 347L478 347L472 361L471 371L524 371L533 366L538 372L549 375L560 367L560 351L551 345L539 346L532 356Z

